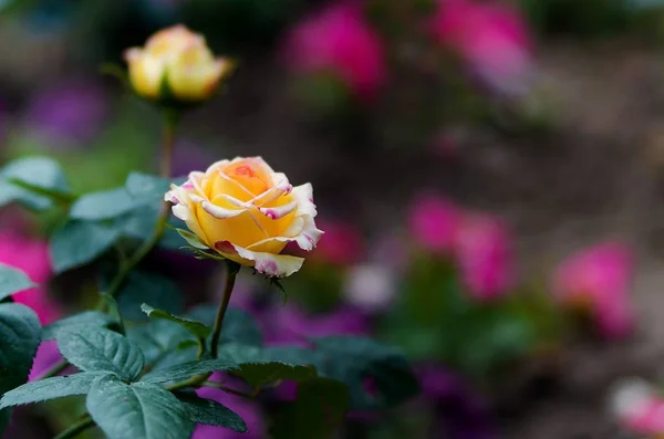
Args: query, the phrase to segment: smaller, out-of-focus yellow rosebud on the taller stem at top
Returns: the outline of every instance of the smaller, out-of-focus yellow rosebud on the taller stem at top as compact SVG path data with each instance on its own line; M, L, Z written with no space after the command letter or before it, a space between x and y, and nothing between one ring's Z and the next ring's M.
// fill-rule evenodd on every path
M125 52L134 91L151 100L209 98L232 62L215 59L205 38L178 24L151 36L145 48Z

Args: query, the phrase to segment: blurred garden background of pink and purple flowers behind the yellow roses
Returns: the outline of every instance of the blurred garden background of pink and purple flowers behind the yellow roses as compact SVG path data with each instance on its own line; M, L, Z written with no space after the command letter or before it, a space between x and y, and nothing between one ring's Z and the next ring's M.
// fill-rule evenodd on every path
M313 184L326 231L287 304L247 274L235 305L271 343L367 334L418 372L421 397L340 437L664 433L664 1L0 0L0 160L53 156L79 194L155 173L159 115L123 52L175 23L238 62L183 121L175 175L260 155ZM52 227L0 210L42 323L90 302L84 269L51 274ZM147 265L193 305L220 294L207 262ZM237 408L256 438L261 404ZM68 410L19 410L8 437Z

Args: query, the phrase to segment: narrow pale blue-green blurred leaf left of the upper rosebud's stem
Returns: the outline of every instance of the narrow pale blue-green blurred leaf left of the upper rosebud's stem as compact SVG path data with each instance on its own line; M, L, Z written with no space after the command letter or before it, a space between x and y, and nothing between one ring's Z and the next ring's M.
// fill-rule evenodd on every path
M134 200L122 187L82 196L72 205L70 218L92 221L111 219L125 215L135 207Z

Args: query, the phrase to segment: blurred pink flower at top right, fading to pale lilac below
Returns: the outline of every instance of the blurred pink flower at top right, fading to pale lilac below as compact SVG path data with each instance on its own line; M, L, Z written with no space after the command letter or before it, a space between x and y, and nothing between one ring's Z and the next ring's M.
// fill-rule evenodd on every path
M523 17L502 1L438 0L429 29L459 53L491 88L518 95L533 71L532 38Z

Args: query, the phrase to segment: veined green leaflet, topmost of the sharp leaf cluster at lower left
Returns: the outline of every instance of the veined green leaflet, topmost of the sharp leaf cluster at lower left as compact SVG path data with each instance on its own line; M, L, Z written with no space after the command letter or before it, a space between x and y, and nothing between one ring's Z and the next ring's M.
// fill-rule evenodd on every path
M61 330L58 347L82 370L107 370L132 380L143 369L143 352L134 342L97 326Z

